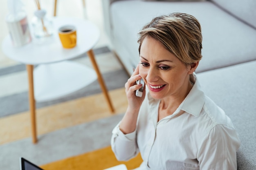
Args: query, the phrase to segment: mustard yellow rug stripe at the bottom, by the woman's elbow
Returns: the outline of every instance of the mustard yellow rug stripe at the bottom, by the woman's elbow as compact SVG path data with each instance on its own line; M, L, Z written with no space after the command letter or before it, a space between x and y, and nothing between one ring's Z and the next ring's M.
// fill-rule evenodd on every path
M129 161L117 161L111 146L88 152L75 157L62 159L40 166L44 170L103 170L119 164L125 164L128 170L139 167L142 163L141 155Z

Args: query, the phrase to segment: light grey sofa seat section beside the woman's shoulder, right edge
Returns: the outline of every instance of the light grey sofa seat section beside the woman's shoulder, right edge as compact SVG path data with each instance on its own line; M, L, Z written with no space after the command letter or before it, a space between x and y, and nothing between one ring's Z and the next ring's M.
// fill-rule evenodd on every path
M240 136L238 170L256 169L256 61L198 73L204 93L233 121Z

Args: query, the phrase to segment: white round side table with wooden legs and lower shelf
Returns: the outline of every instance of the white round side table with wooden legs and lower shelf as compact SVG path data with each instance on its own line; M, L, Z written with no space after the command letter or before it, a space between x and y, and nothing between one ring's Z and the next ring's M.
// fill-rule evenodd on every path
M58 28L67 24L74 25L77 30L77 43L72 49L64 49L58 37ZM47 101L62 97L83 88L98 77L110 111L114 112L92 50L100 36L97 26L80 18L54 17L53 27L51 37L43 40L33 38L31 43L18 48L13 47L10 36L4 38L2 43L2 50L7 57L27 66L33 143L37 142L35 100ZM85 53L90 57L94 70L68 61ZM38 66L34 69L34 65Z

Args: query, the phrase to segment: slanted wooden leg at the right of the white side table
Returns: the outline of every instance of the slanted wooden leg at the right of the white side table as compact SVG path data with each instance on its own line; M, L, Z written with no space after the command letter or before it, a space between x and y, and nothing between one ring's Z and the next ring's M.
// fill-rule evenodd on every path
M107 88L106 88L106 85L105 85L105 83L104 83L104 80L103 80L103 78L102 78L102 76L101 76L101 73L100 73L100 71L99 71L99 68L98 68L97 62L96 62L96 60L95 60L95 58L94 58L94 53L93 53L92 49L87 52L87 55L90 57L90 60L91 60L92 65L93 65L93 67L94 67L94 70L95 70L96 73L97 73L98 81L99 81L99 84L100 84L100 86L101 86L101 90L103 91L103 94L105 95L105 97L106 97L106 99L107 99L107 102L108 102L108 106L109 106L109 108L110 108L110 111L111 111L112 113L114 113L114 107L112 106L112 103L111 103L111 101L110 101L110 97L109 97L109 95L108 95L108 90L107 90Z

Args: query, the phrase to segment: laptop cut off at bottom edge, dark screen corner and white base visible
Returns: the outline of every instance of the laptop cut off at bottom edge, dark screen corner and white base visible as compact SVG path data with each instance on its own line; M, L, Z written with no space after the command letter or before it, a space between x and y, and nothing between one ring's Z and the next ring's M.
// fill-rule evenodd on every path
M43 170L42 168L36 166L25 158L20 157L20 170ZM127 170L124 164L114 166L105 170Z

